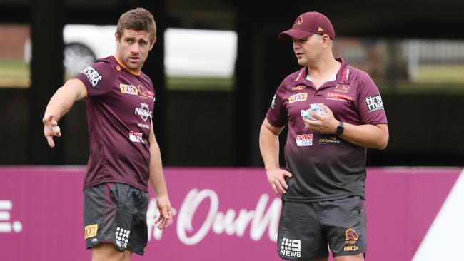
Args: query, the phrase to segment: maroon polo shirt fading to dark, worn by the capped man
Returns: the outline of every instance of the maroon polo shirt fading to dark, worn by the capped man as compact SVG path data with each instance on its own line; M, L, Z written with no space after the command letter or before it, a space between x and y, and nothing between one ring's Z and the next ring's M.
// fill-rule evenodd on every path
M266 118L272 126L288 124L286 168L293 173L283 200L321 201L360 195L365 198L366 148L335 135L313 133L304 127L301 111L323 103L339 121L355 125L387 123L382 98L370 76L342 58L335 81L316 89L306 79L307 68L281 83Z

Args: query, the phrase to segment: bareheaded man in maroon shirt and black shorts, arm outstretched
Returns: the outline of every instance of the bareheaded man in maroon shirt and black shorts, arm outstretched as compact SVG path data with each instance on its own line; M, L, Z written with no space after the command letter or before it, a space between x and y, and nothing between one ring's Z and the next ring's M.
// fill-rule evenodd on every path
M51 148L58 121L85 99L90 157L84 179L84 238L92 260L131 260L148 241L148 183L156 193L159 229L171 224L171 203L153 133L155 91L141 72L156 42L149 11L133 9L118 21L116 54L100 58L66 81L49 101L44 135Z

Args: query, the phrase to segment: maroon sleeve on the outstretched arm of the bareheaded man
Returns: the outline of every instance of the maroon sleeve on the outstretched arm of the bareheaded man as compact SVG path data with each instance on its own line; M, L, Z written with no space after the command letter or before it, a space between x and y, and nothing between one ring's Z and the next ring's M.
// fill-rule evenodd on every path
M116 70L109 63L97 61L74 76L86 86L87 96L101 96L111 91L116 79Z

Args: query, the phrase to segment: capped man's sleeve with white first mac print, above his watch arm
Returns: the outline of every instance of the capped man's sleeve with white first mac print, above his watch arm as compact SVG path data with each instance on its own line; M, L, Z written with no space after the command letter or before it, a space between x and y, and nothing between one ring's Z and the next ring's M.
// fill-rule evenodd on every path
M382 97L372 78L363 72L358 82L358 113L361 124L387 124Z

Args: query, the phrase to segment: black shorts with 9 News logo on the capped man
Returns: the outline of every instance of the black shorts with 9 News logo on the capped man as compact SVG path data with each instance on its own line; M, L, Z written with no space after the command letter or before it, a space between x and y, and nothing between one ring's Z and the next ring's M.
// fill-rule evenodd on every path
M286 260L358 255L367 250L365 200L359 196L311 203L284 201L277 252Z

